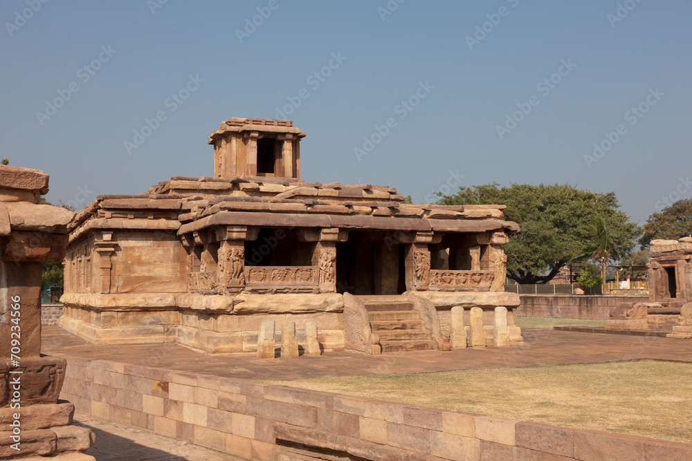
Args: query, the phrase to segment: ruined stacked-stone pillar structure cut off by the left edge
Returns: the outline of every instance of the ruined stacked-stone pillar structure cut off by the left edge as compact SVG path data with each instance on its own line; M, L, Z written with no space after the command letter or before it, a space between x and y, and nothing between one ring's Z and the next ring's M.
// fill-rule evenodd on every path
M47 192L43 171L0 165L0 458L88 461L93 433L57 400L66 361L40 355L42 263L62 261L74 218L37 205Z

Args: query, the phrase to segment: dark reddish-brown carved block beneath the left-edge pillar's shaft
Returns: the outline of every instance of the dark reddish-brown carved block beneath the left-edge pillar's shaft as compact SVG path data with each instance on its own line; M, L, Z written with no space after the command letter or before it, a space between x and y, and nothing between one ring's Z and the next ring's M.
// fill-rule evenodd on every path
M6 361L8 371L21 371L21 406L55 404L65 379L67 361L59 357L21 358L20 366ZM12 375L9 378L12 386Z

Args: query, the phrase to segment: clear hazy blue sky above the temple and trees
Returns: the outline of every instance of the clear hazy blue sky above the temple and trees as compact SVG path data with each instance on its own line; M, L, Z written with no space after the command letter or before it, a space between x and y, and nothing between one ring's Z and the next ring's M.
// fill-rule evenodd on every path
M692 197L689 0L391 0L388 15L386 0L160 1L0 3L0 156L48 172L48 200L211 176L208 135L228 117L274 118L289 97L307 181L390 185L418 202L446 182L569 182L615 191L634 220ZM469 46L476 26L489 32ZM168 99L186 85L181 104ZM46 109L59 91L69 100ZM518 104L531 112L500 139ZM379 144L358 160L363 137Z

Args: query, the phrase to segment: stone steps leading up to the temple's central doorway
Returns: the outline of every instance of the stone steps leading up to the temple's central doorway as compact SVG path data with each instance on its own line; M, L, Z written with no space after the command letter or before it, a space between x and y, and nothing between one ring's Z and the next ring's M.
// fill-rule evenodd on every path
M380 337L382 352L435 350L430 332L403 296L359 296L370 317L370 327Z

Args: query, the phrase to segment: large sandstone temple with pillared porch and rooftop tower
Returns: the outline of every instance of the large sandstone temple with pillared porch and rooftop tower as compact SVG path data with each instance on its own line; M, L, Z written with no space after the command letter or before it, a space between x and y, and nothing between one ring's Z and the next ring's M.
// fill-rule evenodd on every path
M208 354L254 352L268 319L295 322L301 349L308 321L322 350L522 341L519 297L504 292L503 245L519 228L504 206L304 182L304 136L291 121L232 118L209 138L214 176L98 196L69 226L60 325L93 344Z

